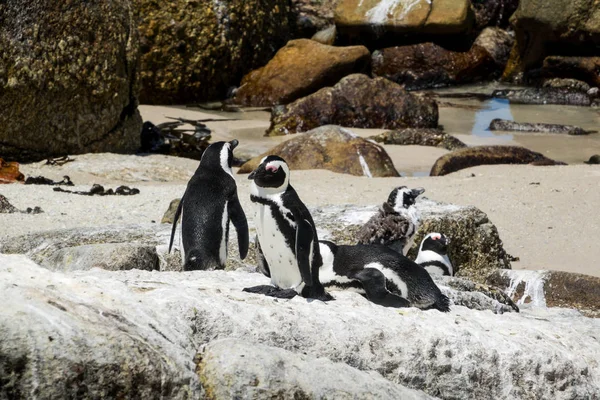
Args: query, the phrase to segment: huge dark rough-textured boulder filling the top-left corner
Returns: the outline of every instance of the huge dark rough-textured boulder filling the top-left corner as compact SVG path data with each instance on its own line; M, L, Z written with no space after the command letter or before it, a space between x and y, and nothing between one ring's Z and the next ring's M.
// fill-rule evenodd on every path
M35 161L139 147L130 0L9 0L0 21L0 155Z

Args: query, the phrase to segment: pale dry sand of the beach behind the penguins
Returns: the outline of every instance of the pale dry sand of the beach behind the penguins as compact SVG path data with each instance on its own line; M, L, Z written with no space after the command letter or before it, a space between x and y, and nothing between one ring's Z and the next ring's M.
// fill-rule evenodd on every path
M439 149L399 147L398 157L435 159ZM50 186L3 185L0 193L20 209L40 206L43 214L0 214L0 236L76 226L160 223L169 202L180 197L197 162L162 155L88 154L64 166L23 165L26 176L60 180L69 175L75 189L93 183L140 189L135 196L88 197L54 192ZM247 175L236 174L242 206L249 210ZM480 166L444 177L366 178L324 170L293 171L292 184L309 207L376 205L398 185L424 187L424 196L474 205L498 227L515 269L553 269L600 276L600 166ZM250 217L250 213L247 211Z

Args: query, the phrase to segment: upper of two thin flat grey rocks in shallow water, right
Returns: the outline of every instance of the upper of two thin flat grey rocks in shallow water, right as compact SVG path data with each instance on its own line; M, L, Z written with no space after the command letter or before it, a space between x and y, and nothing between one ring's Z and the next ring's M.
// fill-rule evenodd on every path
M508 99L514 104L563 104L589 106L593 99L587 93L565 88L527 88L494 90L492 97Z

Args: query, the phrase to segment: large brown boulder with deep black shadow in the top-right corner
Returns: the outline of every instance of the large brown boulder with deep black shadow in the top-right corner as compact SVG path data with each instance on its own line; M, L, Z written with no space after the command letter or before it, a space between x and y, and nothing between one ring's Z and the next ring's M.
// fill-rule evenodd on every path
M513 15L516 43L504 78L522 80L548 55L594 55L600 44L600 3L521 0Z

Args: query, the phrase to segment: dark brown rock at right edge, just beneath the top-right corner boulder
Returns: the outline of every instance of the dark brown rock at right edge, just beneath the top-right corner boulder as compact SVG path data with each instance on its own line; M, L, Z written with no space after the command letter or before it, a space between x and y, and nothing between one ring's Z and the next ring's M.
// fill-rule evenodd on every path
M575 78L591 86L600 86L600 57L546 57L542 74L548 77Z

